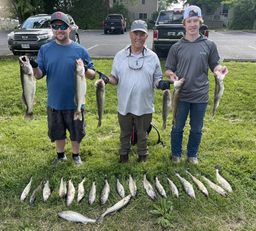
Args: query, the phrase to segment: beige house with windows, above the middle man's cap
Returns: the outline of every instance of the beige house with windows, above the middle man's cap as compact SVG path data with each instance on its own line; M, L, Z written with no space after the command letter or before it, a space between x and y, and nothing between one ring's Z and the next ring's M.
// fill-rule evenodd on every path
M128 11L132 20L144 20L148 21L153 19L153 13L158 10L159 0L139 0L139 4L136 8L128 5ZM109 0L110 7L116 3L116 0Z

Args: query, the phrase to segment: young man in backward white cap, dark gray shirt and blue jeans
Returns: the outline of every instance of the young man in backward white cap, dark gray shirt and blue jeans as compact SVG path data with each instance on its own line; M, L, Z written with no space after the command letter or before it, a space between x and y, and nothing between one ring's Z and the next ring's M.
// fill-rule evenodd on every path
M172 161L178 163L182 155L183 129L190 113L190 134L187 144L188 162L198 163L197 151L201 142L203 118L209 102L208 66L212 72L228 74L221 66L216 44L199 33L203 24L201 9L190 6L184 11L186 35L174 44L166 59L166 76L171 81L185 78L180 94L175 127L171 130ZM174 72L176 72L174 74Z

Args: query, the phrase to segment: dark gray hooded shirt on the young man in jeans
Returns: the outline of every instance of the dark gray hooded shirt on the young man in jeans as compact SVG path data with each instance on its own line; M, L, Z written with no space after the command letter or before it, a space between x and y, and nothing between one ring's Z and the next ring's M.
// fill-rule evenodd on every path
M203 35L193 42L183 37L171 47L165 69L176 72L179 79L186 79L180 94L181 101L209 102L208 66L213 72L219 65L219 59L216 44Z

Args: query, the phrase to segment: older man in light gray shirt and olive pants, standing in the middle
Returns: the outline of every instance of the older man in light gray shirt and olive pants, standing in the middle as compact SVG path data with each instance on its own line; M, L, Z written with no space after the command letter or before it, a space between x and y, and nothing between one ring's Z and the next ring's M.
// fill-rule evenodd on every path
M138 130L137 151L139 162L146 162L147 130L154 110L154 89L170 89L171 81L162 80L162 70L157 55L146 48L147 24L136 20L129 32L131 44L119 51L113 61L109 77L98 72L105 83L118 85L118 122L120 125L120 163L128 162L131 151L133 123Z

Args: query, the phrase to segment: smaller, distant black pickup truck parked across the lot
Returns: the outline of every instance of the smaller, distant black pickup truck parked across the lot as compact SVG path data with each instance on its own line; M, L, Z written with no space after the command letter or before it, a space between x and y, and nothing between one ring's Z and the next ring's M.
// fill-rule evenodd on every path
M103 20L104 34L107 31L120 31L123 34L126 31L126 18L120 14L109 14L107 18Z

